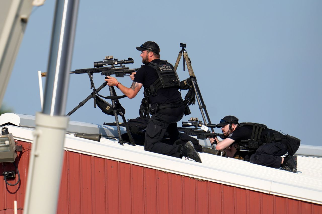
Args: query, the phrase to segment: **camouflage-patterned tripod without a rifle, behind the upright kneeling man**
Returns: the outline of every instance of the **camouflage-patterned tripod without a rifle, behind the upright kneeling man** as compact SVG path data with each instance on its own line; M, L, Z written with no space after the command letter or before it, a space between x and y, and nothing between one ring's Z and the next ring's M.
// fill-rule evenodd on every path
M188 57L188 53L185 50L185 48L187 46L184 43L180 43L180 47L182 49L180 50L180 52L178 54L178 57L177 57L177 60L175 61L175 70L177 70L177 67L179 65L181 56L183 55L183 67L184 67L183 70L185 71L185 64L186 64L187 68L188 68L190 80L191 80L191 85L192 85L192 87L194 89L194 94L196 96L196 100L197 100L197 103L198 103L198 106L199 106L199 109L200 109L200 112L201 112L201 116L202 116L202 118L204 120L204 124L208 124L208 123L211 124L211 121L210 121L210 118L209 118L209 115L208 115L208 112L207 112L207 109L206 109L206 105L204 104L204 100L203 100L203 98L201 96L199 86L197 84L196 76L194 75L194 70L192 69L192 66L191 66L190 58ZM208 123L207 123L205 115L207 117ZM211 128L211 131L214 132L213 128ZM214 149L213 145L211 145L211 146Z

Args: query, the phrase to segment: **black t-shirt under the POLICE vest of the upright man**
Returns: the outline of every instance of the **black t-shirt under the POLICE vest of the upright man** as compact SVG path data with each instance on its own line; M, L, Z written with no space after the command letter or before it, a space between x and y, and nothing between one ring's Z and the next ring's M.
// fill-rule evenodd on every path
M160 63L165 62L160 59L152 60L151 62L154 63ZM142 83L144 89L148 88L150 85L152 85L157 79L159 78L156 69L154 69L151 66L148 66L148 64L145 64L144 66L140 67L134 77L134 82ZM177 103L181 100L181 94L178 91L178 88L172 87L172 88L160 88L157 91L156 96L150 96L149 97L149 103L160 103L160 104L167 104L167 103Z

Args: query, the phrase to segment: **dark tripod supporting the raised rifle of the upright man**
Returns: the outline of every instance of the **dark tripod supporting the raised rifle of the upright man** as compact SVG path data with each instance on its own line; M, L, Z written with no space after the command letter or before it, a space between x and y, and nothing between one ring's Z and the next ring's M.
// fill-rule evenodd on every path
M93 82L93 76L90 74L90 72L88 72L88 76L90 77L90 89L93 89L93 92L88 97L86 97L80 104L78 104L73 110L71 110L68 114L66 114L66 116L70 116L77 109L79 109L81 106L83 106L87 101L89 101L90 98L94 98L94 107L96 108L95 98L97 95L99 95L98 92L106 86L106 82L104 82L101 86L99 86L98 89L95 89L94 82ZM123 120L124 126L126 128L126 132L128 133L128 137L130 139L131 145L135 146L134 139L131 135L130 129L128 128L128 123L126 122L125 116L122 113L122 111L120 110L120 108L118 108L120 105L117 105L117 104L119 104L118 99L124 98L126 96L125 95L117 96L113 86L109 86L109 94L111 96L104 97L104 98L110 99L112 101L113 114L115 116L116 128L118 130L118 143L120 145L123 145L123 138L121 136L121 130L120 130L120 126L118 123L118 114L119 114L122 117L122 120Z

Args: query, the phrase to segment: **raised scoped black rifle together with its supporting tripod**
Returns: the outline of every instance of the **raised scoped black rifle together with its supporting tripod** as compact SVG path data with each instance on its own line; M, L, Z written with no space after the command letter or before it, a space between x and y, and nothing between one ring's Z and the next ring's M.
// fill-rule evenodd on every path
M103 96L99 95L98 92L106 86L106 82L104 82L101 86L99 86L98 89L95 89L95 85L93 82L93 74L94 73L101 73L102 76L103 75L104 76L115 75L116 77L130 76L132 72L137 72L138 68L129 69L128 67L125 67L122 65L122 64L128 64L128 63L134 63L133 59L128 58L128 60L118 61L118 59L114 59L113 56L106 56L105 59L103 59L103 61L94 62L94 68L77 69L75 71L70 72L71 74L86 74L87 73L88 76L90 77L90 89L93 89L93 92L66 115L70 116L77 109L79 109L81 106L83 106L87 101L89 101L90 98L94 98L94 108L96 108L96 102L95 102L96 96L98 95L100 97L103 97ZM109 66L109 67L104 67L104 66ZM118 109L118 107L120 106L118 99L124 98L126 96L125 95L117 96L115 93L115 90L112 86L109 86L109 93L110 93L110 96L103 97L103 98L110 99L112 101L113 113L115 116L116 127L118 129L118 137L119 137L118 143L120 145L123 145L123 138L121 136L121 130L120 130L119 123L118 123L118 114L121 113L120 109ZM128 124L126 122L124 114L121 113L120 115L123 119L126 131L127 131L128 136L130 138L130 141L131 141L131 144L133 146L135 146L134 139L132 138L132 135L131 135L131 132L128 128Z

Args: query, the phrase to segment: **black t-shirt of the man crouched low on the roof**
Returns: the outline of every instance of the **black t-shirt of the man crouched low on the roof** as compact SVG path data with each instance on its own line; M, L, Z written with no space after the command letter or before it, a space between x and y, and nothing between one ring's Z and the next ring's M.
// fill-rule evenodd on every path
M234 141L236 141L236 143L240 142L241 140L248 140L251 139L251 133L253 131L253 126L250 125L243 125L243 126L237 126L237 128L227 137L227 138L231 138ZM264 141L264 136L267 135L268 133L273 134L275 131L273 129L262 129L262 132L260 134L260 140Z

